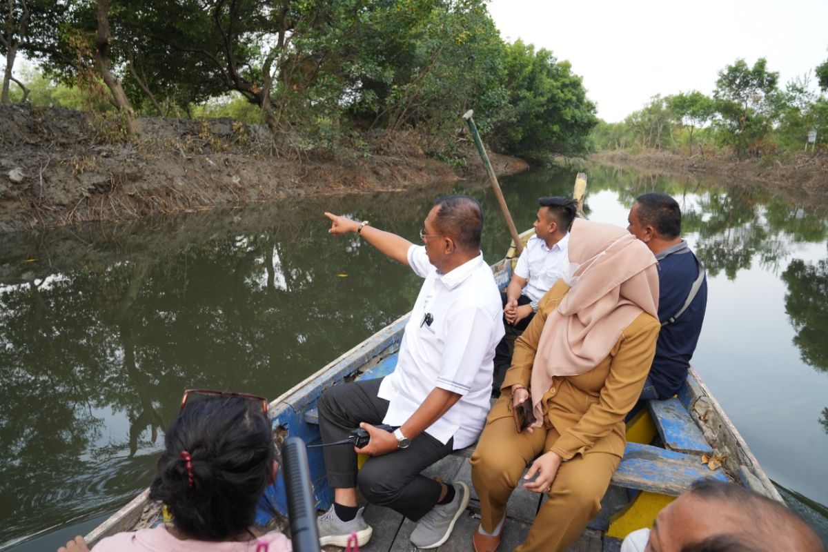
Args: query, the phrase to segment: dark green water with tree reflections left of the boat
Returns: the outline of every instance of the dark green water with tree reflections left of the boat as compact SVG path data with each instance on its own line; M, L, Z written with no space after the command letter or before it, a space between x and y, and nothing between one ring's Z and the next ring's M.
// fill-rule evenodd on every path
M422 210L393 225L416 236ZM416 276L325 229L286 223L4 288L0 543L145 486L185 387L275 398L411 307ZM50 519L36 497L56 496Z

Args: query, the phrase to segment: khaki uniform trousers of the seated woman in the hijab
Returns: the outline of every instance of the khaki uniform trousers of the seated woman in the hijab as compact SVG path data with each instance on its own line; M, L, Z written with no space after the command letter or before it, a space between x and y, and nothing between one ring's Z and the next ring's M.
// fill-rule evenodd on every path
M523 470L538 454L550 449L558 437L555 428L546 425L532 433L517 433L511 417L486 425L470 459L484 530L492 532L503 519L506 502L514 488L522 484ZM527 540L515 551L566 550L601 509L601 498L620 462L615 454L586 452L561 463Z

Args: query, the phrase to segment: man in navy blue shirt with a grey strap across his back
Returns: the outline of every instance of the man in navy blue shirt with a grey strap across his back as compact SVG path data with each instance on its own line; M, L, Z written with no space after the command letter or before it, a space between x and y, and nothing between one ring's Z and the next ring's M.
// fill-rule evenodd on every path
M656 358L642 399L667 399L687 377L707 307L705 267L681 239L681 209L667 194L639 195L629 211L627 229L647 244L658 261Z

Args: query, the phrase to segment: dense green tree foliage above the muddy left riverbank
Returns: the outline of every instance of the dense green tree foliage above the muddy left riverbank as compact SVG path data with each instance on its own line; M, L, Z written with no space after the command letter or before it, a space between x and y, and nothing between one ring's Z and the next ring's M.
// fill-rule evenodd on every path
M75 107L103 108L99 2L31 2L44 8L22 51L55 94L75 87ZM107 16L108 67L139 113L263 121L299 151L413 129L460 163L473 108L487 142L541 159L585 151L597 122L569 63L504 44L485 0L118 0Z

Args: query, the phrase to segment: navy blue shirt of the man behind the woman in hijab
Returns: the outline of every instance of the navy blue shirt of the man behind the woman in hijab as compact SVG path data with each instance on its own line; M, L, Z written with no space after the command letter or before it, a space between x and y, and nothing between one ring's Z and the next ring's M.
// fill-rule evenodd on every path
M662 324L675 315L690 294L691 286L699 276L696 255L681 240L656 255L658 261L658 319ZM659 398L676 394L687 377L690 359L699 342L701 323L707 307L707 277L701 282L696 297L687 310L672 324L662 326L656 342L656 357L652 360L650 379Z

